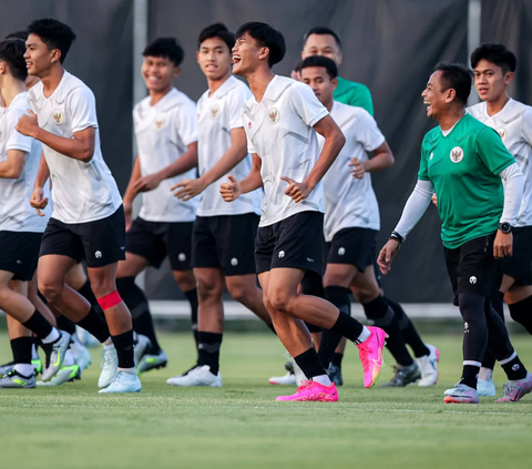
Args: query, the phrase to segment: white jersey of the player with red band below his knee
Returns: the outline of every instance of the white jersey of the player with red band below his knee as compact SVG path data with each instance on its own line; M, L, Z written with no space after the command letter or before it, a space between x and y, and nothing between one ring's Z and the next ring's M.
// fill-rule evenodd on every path
M122 204L122 197L100 149L94 94L66 71L49 98L43 91L42 82L28 91L28 102L38 115L40 128L64 139L72 139L88 128L95 129L94 154L88 163L42 145L53 187L52 217L71 224L111 216Z

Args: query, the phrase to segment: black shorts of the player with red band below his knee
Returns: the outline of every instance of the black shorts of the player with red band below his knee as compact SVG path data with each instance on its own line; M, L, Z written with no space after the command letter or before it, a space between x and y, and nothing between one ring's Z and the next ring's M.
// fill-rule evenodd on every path
M124 207L106 218L86 223L63 223L50 218L42 235L39 256L61 255L85 261L96 268L125 259Z

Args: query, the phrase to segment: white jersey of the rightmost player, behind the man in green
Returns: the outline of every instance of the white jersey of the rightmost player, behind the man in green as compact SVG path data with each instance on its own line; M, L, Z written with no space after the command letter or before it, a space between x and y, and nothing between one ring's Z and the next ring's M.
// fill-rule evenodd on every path
M510 100L494 115L488 115L485 101L468 108L483 124L497 130L524 174L524 192L515 226L532 225L532 108Z

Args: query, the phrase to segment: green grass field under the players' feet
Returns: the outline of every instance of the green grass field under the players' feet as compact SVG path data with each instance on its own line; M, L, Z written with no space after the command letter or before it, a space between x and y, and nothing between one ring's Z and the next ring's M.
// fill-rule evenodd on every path
M224 337L222 389L165 384L193 363L188 335L162 336L171 361L142 377L140 395L99 395L93 349L81 381L1 390L0 468L530 467L532 396L516 404L443 405L443 390L459 378L461 338L428 339L441 351L438 386L364 389L351 346L337 404L276 402L293 388L267 384L284 364L280 344L267 334ZM515 336L514 345L532 364L530 336ZM1 333L0 359L9 351ZM388 366L380 383L390 377ZM498 389L503 380L497 370Z

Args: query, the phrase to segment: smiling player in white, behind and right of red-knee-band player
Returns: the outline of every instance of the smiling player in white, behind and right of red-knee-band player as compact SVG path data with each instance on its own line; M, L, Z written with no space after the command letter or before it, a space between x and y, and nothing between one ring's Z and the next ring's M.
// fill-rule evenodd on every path
M137 365L140 373L166 366L167 356L158 345L146 296L135 284L136 275L149 266L158 268L168 256L174 279L191 304L193 325L197 317L196 282L191 267L197 200L183 202L171 192L173 185L194 177L196 172L196 105L172 84L184 58L174 38L155 39L143 55L142 77L150 94L133 110L139 156L124 194L129 231L125 261L119 263L116 282L132 313L135 332L150 339ZM142 194L142 208L131 223L137 194Z

